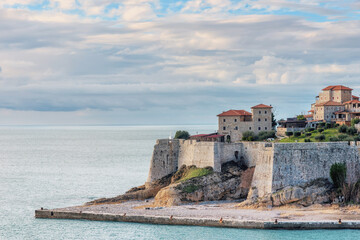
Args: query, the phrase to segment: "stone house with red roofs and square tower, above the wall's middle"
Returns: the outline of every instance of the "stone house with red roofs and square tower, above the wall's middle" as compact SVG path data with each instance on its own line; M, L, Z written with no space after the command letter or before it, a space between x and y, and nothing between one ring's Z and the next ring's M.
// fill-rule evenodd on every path
M252 131L258 134L272 130L272 107L259 104L251 108L251 113L245 110L229 110L218 116L219 135L224 135L226 142L242 140L243 133Z

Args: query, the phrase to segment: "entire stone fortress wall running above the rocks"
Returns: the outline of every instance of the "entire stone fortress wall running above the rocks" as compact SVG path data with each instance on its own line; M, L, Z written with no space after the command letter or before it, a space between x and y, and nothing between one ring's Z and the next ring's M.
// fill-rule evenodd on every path
M196 140L158 140L150 164L147 184L177 171L182 165L213 167L229 161L241 161L255 167L252 189L259 197L285 186L330 178L333 163L345 162L348 179L360 176L360 143L267 143L197 142Z

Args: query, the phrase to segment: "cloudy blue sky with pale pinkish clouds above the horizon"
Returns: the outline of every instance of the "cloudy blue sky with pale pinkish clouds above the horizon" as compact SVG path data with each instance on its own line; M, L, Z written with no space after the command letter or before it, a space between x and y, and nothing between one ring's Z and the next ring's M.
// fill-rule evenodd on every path
M359 56L359 1L0 0L0 125L293 117Z

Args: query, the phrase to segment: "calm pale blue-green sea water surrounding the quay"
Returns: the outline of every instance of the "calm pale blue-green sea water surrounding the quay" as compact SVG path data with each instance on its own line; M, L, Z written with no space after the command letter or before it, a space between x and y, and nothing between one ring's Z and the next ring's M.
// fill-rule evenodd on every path
M216 126L0 127L0 239L360 239L360 231L269 231L34 218L145 182L155 140Z

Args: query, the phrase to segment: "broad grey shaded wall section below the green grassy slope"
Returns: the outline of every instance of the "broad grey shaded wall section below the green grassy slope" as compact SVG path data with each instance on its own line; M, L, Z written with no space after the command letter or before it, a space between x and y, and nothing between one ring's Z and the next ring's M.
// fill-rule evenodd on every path
M348 180L360 176L359 147L347 142L277 143L274 147L272 191L307 183L317 178L330 179L330 167L346 162Z

